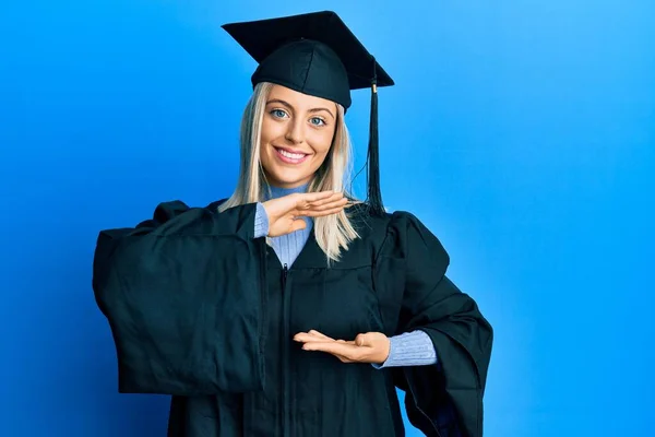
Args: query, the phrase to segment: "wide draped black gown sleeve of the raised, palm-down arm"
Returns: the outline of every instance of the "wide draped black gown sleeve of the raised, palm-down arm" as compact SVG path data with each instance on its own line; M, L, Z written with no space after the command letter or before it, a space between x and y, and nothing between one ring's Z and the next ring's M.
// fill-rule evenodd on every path
M262 388L266 251L253 235L255 212L166 202L133 228L99 233L93 290L112 333L119 392Z

